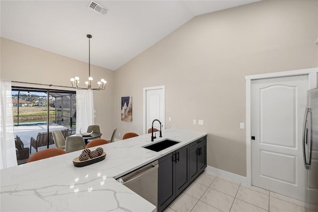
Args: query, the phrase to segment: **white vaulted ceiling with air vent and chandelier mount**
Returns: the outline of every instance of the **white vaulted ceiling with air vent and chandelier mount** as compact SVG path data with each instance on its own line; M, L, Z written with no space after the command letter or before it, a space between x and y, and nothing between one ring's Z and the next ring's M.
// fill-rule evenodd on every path
M259 0L1 0L1 37L116 70L191 18Z

